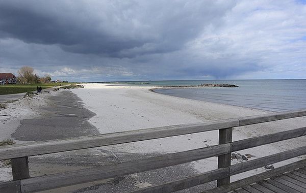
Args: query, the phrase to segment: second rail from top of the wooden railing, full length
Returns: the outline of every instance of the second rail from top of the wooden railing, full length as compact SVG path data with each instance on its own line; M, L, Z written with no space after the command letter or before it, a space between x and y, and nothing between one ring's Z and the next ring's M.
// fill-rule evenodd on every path
M120 164L110 165L110 166L103 166L99 168L84 169L84 170L72 171L72 172L61 173L61 174L53 174L53 175L47 175L47 176L38 176L34 178L28 178L28 179L21 180L20 183L22 184L22 188L24 190L27 190L27 192L34 191L34 190L41 191L45 189L52 189L52 188L57 188L57 187L62 187L62 186L68 186L68 185L85 183L85 182L90 182L90 181L95 181L95 180L107 179L107 178L115 177L118 175L127 175L127 174L142 172L142 171L149 171L149 170L164 168L164 167L173 166L177 164L188 163L188 162L192 162L198 159L203 159L203 158L208 158L212 156L229 153L232 151L231 147L235 146L233 144L240 144L242 147L245 147L245 146L255 147L255 146L265 145L267 143L272 143L276 141L299 137L299 136L305 135L306 127L298 128L292 131L286 131L286 132L262 136L263 138L266 139L266 141L261 140L256 143L253 143L253 142L256 141L256 139L258 139L259 137L235 141L232 143L226 143L226 144L221 144L221 145L216 145L216 146L211 146L211 147L206 147L206 148L183 151L179 153L171 153L171 154L165 154L165 155L156 156L156 157L150 157L146 159L133 160L131 162L125 162L125 163L120 163ZM288 135L288 133L290 133L291 135ZM299 153L300 152L303 152L303 150L299 151ZM285 154L286 153L287 152L285 152ZM288 155L291 156L292 153ZM294 154L294 156L295 155L296 154ZM276 155L276 157L277 156L278 155ZM249 162L257 163L257 162L261 162L261 160L265 158L266 157L258 158L258 159L251 160ZM278 160L278 159L275 159L275 160ZM249 162L246 162L246 163L249 163ZM234 170L235 170L235 167L234 169L232 169L232 171ZM71 176L73 176L73 178L71 178Z

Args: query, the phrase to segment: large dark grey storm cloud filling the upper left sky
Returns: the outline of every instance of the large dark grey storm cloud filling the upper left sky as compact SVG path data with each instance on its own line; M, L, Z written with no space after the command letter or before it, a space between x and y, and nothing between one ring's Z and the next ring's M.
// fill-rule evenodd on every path
M27 43L58 44L68 52L134 57L180 50L231 6L213 1L53 2L2 1L1 31Z

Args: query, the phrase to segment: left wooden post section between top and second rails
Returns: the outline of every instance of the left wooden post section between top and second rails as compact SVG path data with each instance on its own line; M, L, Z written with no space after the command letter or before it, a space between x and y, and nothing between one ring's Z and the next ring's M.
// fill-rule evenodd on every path
M11 160L13 180L30 178L28 157L18 157Z

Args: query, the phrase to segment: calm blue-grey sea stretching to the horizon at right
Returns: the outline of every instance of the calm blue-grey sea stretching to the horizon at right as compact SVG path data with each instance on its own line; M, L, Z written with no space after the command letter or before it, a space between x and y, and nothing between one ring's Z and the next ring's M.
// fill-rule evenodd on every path
M155 92L174 97L242 106L274 112L306 109L306 79L172 80L112 82L129 86L235 84L239 87L162 88Z

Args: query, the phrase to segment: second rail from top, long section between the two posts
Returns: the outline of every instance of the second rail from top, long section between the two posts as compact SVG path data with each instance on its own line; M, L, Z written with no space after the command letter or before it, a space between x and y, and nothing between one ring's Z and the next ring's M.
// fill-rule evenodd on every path
M116 165L107 165L99 168L38 176L21 180L20 183L22 190L41 191L192 162L194 160L228 153L231 149L230 146L230 144L222 144L179 153L149 157L146 159L138 159Z

